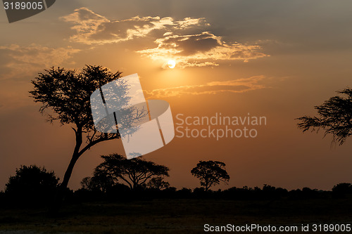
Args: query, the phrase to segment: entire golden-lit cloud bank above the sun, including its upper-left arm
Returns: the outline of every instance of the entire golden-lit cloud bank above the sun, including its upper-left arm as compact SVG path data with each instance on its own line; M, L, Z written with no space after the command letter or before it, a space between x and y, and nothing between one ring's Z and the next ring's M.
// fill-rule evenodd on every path
M156 60L164 68L168 68L168 60L176 60L177 67L184 68L218 66L225 60L248 62L268 56L260 52L259 44L229 43L211 32L204 32L206 27L210 27L204 18L175 20L171 17L135 16L109 20L82 7L61 17L61 20L74 25L71 28L75 34L70 37L71 41L87 45L118 43L148 36L156 47L144 48L137 53ZM153 31L159 33L151 33Z

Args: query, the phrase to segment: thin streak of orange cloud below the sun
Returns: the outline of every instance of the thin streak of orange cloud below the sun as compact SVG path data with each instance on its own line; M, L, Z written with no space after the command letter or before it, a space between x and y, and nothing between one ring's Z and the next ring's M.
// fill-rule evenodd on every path
M270 88L268 85L272 78L263 75L249 77L243 79L234 79L223 82L208 82L206 84L178 86L166 89L154 89L146 91L146 96L149 98L165 98L182 95L201 95L201 94L216 94L216 93L244 93L256 89Z

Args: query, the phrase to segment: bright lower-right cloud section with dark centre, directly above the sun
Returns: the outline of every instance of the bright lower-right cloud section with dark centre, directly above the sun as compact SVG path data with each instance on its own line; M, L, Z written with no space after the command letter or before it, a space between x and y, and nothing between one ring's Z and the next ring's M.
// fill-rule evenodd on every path
M181 68L217 66L219 60L248 62L251 59L268 56L258 52L261 48L258 45L227 44L222 41L222 37L210 32L191 35L164 34L164 37L156 39L155 43L158 44L156 48L137 52L163 63L166 59L175 60L177 66ZM164 64L163 67L166 68L167 65Z

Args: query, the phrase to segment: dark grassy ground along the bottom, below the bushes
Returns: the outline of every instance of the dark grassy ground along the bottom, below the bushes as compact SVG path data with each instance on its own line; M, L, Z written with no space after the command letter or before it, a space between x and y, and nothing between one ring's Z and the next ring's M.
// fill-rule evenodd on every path
M352 199L94 202L66 204L56 218L47 217L45 209L3 208L0 212L0 233L4 234L204 233L205 223L212 226L352 223Z

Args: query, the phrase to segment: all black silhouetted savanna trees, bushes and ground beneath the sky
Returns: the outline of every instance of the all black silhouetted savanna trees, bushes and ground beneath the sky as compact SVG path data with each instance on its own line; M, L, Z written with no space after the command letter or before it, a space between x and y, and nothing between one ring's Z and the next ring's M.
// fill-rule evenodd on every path
M82 178L81 188L71 190L68 181L78 158L102 141L120 138L96 131L89 108L92 91L120 76L121 72L87 65L82 72L52 67L32 80L30 93L42 103L40 112L51 122L72 127L75 148L62 180L36 165L14 171L0 193L0 234L203 233L206 223L351 223L351 183L338 183L331 190L287 190L266 184L220 190L216 186L228 183L230 175L224 162L213 160L199 161L189 171L199 179L199 187L175 188L168 182L170 168L164 165L144 157L102 155L103 162ZM66 105L68 101L72 105ZM351 89L315 109L318 116L298 118L298 128L322 129L333 141L345 143L352 134Z

